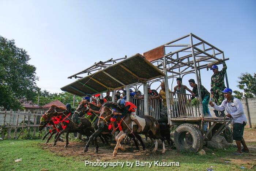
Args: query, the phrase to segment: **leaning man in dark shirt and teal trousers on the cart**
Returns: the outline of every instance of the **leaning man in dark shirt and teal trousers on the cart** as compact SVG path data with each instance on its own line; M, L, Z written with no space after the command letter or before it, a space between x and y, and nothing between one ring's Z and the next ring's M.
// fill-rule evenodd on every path
M193 87L193 94L192 96L198 97L198 91L197 91L197 84L195 83L194 79L190 79L188 80L189 85L191 87ZM203 105L203 112L204 112L204 116L205 117L212 117L208 108L208 103L210 101L210 93L206 90L206 88L204 88L204 86L202 84L200 84L200 91L201 91L201 98L202 98L202 105ZM207 131L207 127L208 127L208 123L209 122L204 122L204 131Z

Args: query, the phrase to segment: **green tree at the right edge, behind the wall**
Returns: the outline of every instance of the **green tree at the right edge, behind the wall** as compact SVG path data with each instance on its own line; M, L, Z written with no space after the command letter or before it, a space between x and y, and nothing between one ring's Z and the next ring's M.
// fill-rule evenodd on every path
M246 98L252 98L256 96L256 73L252 76L249 73L242 73L240 77L238 77L240 81L238 81L238 88L244 90L244 96Z

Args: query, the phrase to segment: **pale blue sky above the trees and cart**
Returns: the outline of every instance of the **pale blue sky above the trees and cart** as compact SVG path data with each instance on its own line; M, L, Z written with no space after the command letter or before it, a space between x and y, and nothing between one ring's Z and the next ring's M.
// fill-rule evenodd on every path
M188 33L223 50L230 88L253 74L256 1L0 1L0 35L27 50L37 85L61 92L94 62L146 52ZM210 90L211 71L202 70ZM187 86L186 76L183 83ZM175 84L175 81L174 81Z

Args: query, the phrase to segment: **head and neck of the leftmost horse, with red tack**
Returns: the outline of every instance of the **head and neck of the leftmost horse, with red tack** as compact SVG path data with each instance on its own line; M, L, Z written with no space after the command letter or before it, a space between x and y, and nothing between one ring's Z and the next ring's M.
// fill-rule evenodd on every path
M57 116L58 112L67 110L65 107L52 105L50 109L46 111L44 115L42 115L40 123L39 123L39 131L41 131L50 121L52 121L52 117Z

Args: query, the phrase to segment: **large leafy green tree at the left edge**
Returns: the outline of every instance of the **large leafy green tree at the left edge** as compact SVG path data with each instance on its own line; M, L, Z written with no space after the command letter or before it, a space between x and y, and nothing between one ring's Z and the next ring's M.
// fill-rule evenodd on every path
M5 109L18 109L18 99L32 100L36 94L38 77L29 60L26 50L17 47L14 40L0 36L0 106Z

